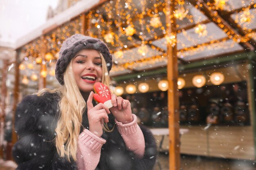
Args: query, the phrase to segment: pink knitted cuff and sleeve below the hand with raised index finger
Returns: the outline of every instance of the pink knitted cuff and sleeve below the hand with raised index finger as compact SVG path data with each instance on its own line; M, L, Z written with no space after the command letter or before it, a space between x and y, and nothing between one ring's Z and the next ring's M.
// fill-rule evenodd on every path
M105 143L105 139L97 137L88 129L84 129L78 137L76 151L78 170L95 170L101 156L101 147Z

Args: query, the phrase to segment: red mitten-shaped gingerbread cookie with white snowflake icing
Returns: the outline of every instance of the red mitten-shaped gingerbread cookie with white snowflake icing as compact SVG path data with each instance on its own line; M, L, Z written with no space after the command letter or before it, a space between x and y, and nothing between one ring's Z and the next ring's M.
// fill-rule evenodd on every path
M111 95L108 90L108 86L104 85L101 82L97 82L93 86L94 92L97 94L93 94L93 98L98 103L103 103L108 108L112 108Z

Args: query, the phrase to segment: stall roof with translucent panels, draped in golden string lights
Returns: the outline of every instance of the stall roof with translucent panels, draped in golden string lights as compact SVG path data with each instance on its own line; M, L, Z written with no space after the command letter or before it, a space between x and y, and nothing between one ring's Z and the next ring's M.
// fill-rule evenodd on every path
M50 20L31 33L30 39L21 38L16 46L23 45L23 57L29 60L38 57L34 53L40 51L40 35L49 30L44 32L46 53L57 59L61 42L73 33L83 33L82 27L87 26L85 34L103 40L110 47L114 62L112 76L165 67L167 43L175 40L166 36L165 0L106 0L92 8L102 2L79 1L80 5ZM177 0L177 42L173 44L177 45L179 63L255 51L255 7L254 0ZM85 17L74 18L79 14ZM36 39L31 41L33 38ZM50 67L54 61L51 60Z

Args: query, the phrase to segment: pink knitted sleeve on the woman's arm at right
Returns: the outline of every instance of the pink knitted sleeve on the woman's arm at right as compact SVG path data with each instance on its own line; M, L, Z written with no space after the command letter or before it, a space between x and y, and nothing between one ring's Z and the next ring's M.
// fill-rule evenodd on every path
M124 139L126 148L134 152L138 158L142 158L145 151L144 135L136 122L136 115L132 114L132 117L133 121L129 124L122 124L116 119L115 122L117 124L117 130Z

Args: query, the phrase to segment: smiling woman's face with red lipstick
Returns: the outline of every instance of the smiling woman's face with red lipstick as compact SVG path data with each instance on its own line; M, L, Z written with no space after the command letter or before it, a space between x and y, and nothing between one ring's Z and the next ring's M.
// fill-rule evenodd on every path
M72 61L72 68L80 91L93 91L93 85L96 82L101 82L101 64L101 57L97 50L83 49L76 53Z

